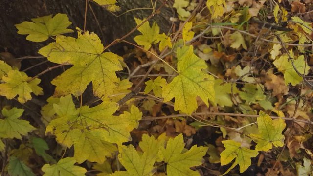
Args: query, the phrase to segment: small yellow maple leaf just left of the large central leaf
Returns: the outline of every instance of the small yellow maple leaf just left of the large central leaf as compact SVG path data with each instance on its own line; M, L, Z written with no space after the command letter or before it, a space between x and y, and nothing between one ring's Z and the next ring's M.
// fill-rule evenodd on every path
M162 88L166 85L166 79L158 76L156 79L154 80L149 80L147 82L145 82L145 84L147 85L145 88L145 94L148 94L151 90L153 90L153 93L157 96L157 97L162 97Z

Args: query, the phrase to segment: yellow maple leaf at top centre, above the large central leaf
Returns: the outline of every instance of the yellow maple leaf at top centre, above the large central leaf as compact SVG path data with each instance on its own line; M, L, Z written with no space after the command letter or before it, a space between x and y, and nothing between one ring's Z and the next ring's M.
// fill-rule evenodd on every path
M134 18L136 24L141 24L145 19L140 20L138 18ZM159 42L158 36L160 32L160 28L156 22L152 24L150 27L149 22L145 22L137 29L141 32L142 35L137 35L134 37L134 41L137 42L138 45L144 46L144 49L148 50L151 47L151 44L156 44Z

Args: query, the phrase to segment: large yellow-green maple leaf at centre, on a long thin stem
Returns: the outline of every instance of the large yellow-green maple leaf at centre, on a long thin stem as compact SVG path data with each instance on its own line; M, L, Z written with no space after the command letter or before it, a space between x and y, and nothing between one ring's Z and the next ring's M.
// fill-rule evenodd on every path
M179 75L171 83L162 88L164 101L175 97L175 110L191 114L197 109L196 97L199 96L208 106L210 100L215 102L214 78L203 73L207 65L193 53L192 46L177 49L177 69Z

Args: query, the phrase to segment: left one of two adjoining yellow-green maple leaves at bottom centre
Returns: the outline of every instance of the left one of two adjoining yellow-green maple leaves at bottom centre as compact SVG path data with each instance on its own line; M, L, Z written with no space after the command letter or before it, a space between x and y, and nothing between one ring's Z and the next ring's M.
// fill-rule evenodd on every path
M125 167L126 171L118 171L112 176L150 176L155 172L154 163L162 142L153 136L142 135L139 147L143 153L136 151L134 146L120 146L118 160Z

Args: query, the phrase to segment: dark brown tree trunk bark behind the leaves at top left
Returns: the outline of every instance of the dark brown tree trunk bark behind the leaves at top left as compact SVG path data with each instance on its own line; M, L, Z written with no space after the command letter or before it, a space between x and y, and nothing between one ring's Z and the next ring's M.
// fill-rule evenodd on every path
M131 9L150 7L150 0L118 0L121 7L120 12L114 12L119 15ZM90 1L94 15L90 8L87 13L86 30L95 32L101 38L104 44L109 44L116 38L120 38L134 28L134 17L148 17L152 10L134 10L120 17L115 17L105 8ZM157 6L160 5L157 2ZM34 43L25 39L26 35L17 34L14 24L23 21L31 21L31 18L41 17L45 15L55 15L57 13L65 13L72 22L70 28L84 28L85 16L85 0L0 0L0 47L7 48L16 57L26 55L36 55L38 49L45 46L49 42ZM162 8L161 12L153 17L151 21L157 21L162 31L167 32L171 26L169 18L172 16L169 8ZM96 22L95 17L98 22ZM68 35L68 34L67 34ZM76 36L76 33L69 34ZM133 35L134 37L134 35Z

